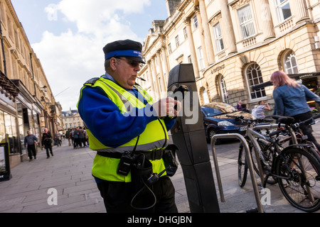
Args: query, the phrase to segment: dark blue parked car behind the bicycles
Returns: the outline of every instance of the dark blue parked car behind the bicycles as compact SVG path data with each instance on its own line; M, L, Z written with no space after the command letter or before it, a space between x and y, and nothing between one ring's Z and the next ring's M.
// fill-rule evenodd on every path
M211 102L201 106L203 114L203 124L206 131L206 138L210 142L215 134L223 133L240 133L245 135L246 125L241 121L229 116L244 116L245 118L255 118L251 114L244 111L238 111L230 104L223 102ZM215 144L220 143L220 140L215 140Z

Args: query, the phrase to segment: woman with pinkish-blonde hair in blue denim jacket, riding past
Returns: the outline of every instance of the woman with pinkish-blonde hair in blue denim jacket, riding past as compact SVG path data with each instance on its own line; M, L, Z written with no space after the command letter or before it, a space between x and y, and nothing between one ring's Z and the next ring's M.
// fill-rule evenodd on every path
M306 100L314 100L320 104L320 97L309 91L303 84L295 82L294 79L282 71L272 73L270 81L274 86L274 114L280 116L292 116L296 122L311 118L311 109ZM320 145L312 135L311 126L300 126L304 135L308 135L316 148L320 151Z

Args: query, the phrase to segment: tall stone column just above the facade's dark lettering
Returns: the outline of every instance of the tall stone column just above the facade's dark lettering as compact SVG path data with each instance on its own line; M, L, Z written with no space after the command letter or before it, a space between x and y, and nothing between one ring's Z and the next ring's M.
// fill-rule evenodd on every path
M228 0L220 0L219 2L221 10L221 31L223 33L223 42L228 48L228 55L238 52L235 45L235 33L233 32L233 21L231 20Z

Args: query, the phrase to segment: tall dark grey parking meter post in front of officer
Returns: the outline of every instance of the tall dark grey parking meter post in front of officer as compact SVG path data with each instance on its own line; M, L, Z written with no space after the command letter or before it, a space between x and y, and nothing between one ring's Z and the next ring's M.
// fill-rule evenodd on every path
M169 72L168 94L181 85L186 85L188 92L182 102L183 114L176 118L171 136L178 148L190 211L220 213L192 64L177 65ZM186 116L185 109L192 114Z

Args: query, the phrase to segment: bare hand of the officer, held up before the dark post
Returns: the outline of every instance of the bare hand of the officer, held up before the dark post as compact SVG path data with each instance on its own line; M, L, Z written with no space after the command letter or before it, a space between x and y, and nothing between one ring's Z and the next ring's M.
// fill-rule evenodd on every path
M171 97L160 99L156 101L153 105L156 114L159 117L164 116L177 116L178 112L181 110L181 102L176 101ZM176 106L176 109L174 108Z

